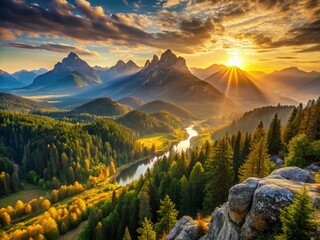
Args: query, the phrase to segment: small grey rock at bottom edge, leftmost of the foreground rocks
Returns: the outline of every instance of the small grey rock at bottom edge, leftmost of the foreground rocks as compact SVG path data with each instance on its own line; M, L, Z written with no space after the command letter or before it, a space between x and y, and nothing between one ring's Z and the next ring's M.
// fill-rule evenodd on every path
M191 217L184 216L170 231L166 240L198 240L201 237L201 229Z

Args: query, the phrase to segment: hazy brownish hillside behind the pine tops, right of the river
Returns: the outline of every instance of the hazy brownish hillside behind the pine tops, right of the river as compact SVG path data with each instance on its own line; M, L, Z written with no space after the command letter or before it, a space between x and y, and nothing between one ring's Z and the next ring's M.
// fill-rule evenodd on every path
M277 113L284 126L293 110L293 106L267 106L253 109L246 112L239 119L234 120L230 125L223 127L212 134L212 139L216 140L223 137L226 133L229 135L240 132L253 132L262 121L265 127L269 127L273 116Z

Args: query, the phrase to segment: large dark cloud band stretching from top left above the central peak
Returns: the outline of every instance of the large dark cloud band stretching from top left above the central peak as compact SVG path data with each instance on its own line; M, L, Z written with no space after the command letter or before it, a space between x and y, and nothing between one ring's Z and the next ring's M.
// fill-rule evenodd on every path
M58 0L56 0L58 1ZM76 40L113 41L129 46L148 45L157 48L172 48L180 52L190 52L205 41L211 40L214 21L207 19L193 23L194 29L187 29L181 23L181 29L147 33L138 27L115 21L104 13L102 7L93 7L88 1L76 0L76 7L85 17L74 15L72 5L60 0L58 7L44 8L24 1L1 0L0 27L25 32L49 33ZM61 11L64 9L64 11ZM207 32L206 32L207 28ZM186 47L191 42L192 48Z

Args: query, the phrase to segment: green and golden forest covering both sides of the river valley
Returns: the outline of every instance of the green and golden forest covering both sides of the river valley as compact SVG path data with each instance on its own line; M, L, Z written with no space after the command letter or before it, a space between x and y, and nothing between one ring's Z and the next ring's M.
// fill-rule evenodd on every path
M275 113L268 126L260 122L252 133L171 151L145 176L121 187L108 182L116 167L150 154L136 144L135 131L111 120L71 124L1 112L1 194L17 191L23 178L53 190L47 198L1 208L6 232L0 234L56 239L86 221L79 239L165 239L184 215L195 217L206 232L207 216L227 201L229 189L248 177L267 176L276 167L274 156L285 166L320 162L319 110L320 98L294 107L286 125Z

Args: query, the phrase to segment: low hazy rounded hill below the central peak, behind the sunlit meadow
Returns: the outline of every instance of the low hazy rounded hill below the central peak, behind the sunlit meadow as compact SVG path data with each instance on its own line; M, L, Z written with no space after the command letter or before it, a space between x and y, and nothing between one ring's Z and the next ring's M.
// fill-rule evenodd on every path
M145 105L141 106L139 110L146 112L148 114L156 113L159 111L167 111L174 116L177 116L181 119L195 119L196 116L190 113L187 109L180 107L176 104L169 103L166 101L156 100L152 102L148 102Z

